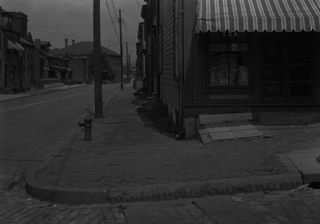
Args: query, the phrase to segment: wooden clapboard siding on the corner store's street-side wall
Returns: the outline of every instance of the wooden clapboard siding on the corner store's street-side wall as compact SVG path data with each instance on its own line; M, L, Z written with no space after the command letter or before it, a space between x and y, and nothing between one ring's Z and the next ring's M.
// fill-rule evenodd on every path
M159 26L162 27L162 75L160 76L161 97L178 110L178 80L175 75L175 14L172 0L159 2Z

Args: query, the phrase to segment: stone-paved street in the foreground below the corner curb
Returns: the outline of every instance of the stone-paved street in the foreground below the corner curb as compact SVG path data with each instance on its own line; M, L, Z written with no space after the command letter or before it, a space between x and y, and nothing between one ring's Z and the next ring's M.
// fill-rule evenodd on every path
M21 181L0 190L2 224L309 224L320 222L320 190L241 193L164 202L68 205L29 196Z

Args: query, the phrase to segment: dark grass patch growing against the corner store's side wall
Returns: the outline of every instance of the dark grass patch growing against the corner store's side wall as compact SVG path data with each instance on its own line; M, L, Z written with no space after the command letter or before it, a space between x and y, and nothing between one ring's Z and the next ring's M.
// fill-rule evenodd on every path
M146 119L161 132L173 135L178 132L178 126L173 123L172 115L169 113L168 105L157 100L150 110L145 112Z

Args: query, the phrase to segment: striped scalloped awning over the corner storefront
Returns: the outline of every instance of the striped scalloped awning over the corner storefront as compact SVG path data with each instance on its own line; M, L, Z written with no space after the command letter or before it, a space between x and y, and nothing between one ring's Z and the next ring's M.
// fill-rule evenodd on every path
M320 31L320 0L197 0L195 33Z

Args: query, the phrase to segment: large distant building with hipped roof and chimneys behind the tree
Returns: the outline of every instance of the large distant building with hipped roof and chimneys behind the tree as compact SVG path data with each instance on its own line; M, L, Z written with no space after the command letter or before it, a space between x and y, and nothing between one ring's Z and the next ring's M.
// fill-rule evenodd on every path
M68 45L68 39L65 39L65 47L62 49L52 49L51 53L57 57L69 60L69 67L72 73L72 77L70 78L81 81L81 83L91 83L93 81L93 74L91 71L88 71L87 60L92 50L92 41L80 41L76 43L75 40L72 40L72 44ZM119 82L120 54L103 46L101 46L101 50L107 53L110 65L116 74L113 82Z

